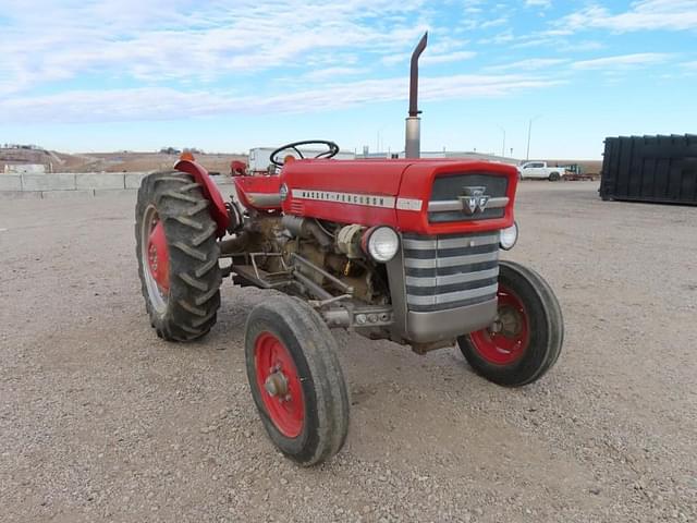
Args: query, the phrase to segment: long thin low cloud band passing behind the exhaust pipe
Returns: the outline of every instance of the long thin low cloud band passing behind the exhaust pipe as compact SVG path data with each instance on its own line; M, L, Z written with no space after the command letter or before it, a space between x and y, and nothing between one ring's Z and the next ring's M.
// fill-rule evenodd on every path
M523 74L458 74L423 77L420 99L497 98L562 83ZM115 122L170 120L227 113L319 112L356 105L406 100L408 78L364 80L274 96L235 96L224 90L181 92L169 87L73 90L0 99L8 122Z

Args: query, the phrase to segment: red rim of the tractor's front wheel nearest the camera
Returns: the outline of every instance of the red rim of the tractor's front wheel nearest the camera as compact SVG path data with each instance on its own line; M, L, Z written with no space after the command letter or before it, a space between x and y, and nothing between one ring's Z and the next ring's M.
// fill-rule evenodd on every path
M261 332L254 344L257 387L269 417L279 431L295 438L303 430L305 400L291 353L270 332Z

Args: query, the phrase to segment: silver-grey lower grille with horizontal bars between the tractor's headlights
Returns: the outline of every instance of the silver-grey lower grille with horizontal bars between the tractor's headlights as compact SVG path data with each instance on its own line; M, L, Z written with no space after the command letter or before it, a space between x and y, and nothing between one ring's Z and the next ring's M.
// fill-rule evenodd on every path
M496 297L499 231L438 236L404 234L403 248L409 311L443 311Z

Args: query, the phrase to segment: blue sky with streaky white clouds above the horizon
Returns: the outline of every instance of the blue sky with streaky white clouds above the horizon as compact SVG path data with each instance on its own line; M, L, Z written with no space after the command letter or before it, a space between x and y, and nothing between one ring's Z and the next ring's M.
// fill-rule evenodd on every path
M423 150L697 133L697 0L0 0L0 144L403 150L426 31Z

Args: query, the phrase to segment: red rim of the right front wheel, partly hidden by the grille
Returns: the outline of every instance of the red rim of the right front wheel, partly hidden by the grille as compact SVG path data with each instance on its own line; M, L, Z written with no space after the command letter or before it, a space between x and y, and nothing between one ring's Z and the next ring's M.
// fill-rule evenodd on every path
M494 365L517 362L530 342L530 326L521 299L499 283L499 315L486 329L469 335L479 355Z

